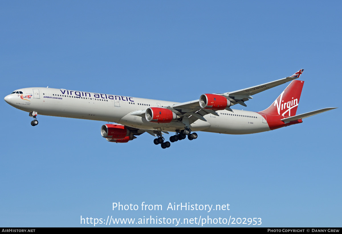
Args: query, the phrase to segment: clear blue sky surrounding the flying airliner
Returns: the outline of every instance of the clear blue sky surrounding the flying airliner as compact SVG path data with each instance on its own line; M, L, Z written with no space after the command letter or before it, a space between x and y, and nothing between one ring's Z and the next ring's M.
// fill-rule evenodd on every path
M2 1L0 12L3 97L49 86L186 102L305 69L297 113L340 107L339 1ZM243 109L261 111L285 88ZM109 143L103 122L38 116L32 127L27 113L1 108L0 226L150 215L341 226L340 108L270 132L198 132L166 150L149 134ZM163 210L118 211L113 202ZM230 210L166 210L187 202Z

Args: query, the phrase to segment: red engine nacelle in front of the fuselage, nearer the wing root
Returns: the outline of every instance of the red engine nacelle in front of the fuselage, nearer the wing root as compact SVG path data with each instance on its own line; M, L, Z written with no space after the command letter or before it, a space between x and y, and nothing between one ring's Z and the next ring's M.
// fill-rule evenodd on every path
M170 123L177 118L171 110L160 107L149 107L146 109L145 118L153 123Z

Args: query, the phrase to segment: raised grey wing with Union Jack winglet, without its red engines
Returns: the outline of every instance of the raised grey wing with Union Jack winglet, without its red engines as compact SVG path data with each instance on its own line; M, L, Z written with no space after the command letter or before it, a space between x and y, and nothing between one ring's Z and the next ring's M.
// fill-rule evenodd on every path
M292 76L288 76L286 78L278 79L276 81L268 82L261 85L252 86L246 89L240 89L232 92L226 93L213 93L216 95L220 95L225 97L227 100L231 102L231 105L240 104L242 106L247 106L245 104L246 101L252 99L252 95L265 91L267 89L276 87L278 85L285 84L289 81L293 81L303 73L304 69L299 70L298 72L294 73ZM178 104L173 104L170 106L166 106L166 108L171 109L179 116L191 116L189 118L190 123L196 121L197 119L201 119L206 121L203 116L207 114L212 114L218 116L218 114L211 110L211 109L204 109L201 108L199 104L199 100L194 100L190 102L183 102ZM232 111L230 107L226 108L228 111Z

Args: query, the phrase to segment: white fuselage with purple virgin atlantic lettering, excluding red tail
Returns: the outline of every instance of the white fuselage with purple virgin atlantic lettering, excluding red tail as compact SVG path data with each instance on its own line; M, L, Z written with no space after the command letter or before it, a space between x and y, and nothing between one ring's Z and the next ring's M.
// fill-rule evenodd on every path
M53 88L24 88L16 91L22 91L23 94L12 93L6 96L6 102L26 112L35 111L38 115L116 122L148 130L175 131L185 127L177 120L153 123L148 122L144 116L131 115L137 110L169 106L177 102ZM208 114L204 116L207 121L197 120L192 123L191 130L225 134L270 130L266 120L256 112L234 109L233 112L222 110L216 113L219 116Z

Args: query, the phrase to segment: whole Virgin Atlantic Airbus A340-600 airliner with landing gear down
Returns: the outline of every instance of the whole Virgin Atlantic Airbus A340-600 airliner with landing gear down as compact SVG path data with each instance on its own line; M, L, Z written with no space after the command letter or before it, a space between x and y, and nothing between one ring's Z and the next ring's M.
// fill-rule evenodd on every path
M156 137L154 144L165 149L170 142L197 138L195 131L224 134L251 134L270 131L297 123L302 119L331 109L296 115L304 81L296 80L303 73L265 84L226 93L205 93L198 100L177 103L54 88L22 88L4 100L17 109L28 112L32 126L38 125L37 115L106 121L101 135L108 142L127 143L145 132ZM247 106L254 94L291 83L265 110L259 112L232 109ZM109 123L111 122L111 123ZM170 142L164 134L174 132Z

